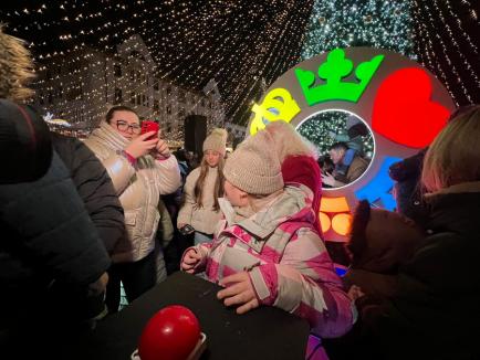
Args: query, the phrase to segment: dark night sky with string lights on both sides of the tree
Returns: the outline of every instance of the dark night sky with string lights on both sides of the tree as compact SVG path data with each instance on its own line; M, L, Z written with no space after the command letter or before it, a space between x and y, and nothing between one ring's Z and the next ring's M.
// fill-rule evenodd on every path
M75 46L114 52L115 45L139 33L158 64L158 77L196 91L215 78L227 120L246 125L252 102L300 61L313 4L314 0L4 1L0 21L8 33L28 41L39 64L59 62L61 56L51 57L55 52ZM411 4L419 62L448 85L458 105L479 103L479 1Z

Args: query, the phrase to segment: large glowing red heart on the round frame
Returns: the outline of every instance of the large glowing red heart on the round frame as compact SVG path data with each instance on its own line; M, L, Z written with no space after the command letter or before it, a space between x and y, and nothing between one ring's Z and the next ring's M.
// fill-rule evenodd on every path
M431 83L418 67L389 75L375 97L372 127L387 139L411 147L429 145L447 124L450 112L430 100Z

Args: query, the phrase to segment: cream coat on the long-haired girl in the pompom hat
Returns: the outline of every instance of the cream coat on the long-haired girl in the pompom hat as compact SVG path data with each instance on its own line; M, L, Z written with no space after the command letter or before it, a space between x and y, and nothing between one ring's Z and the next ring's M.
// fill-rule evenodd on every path
M195 184L200 177L200 168L191 171L184 187L184 205L178 213L177 224L190 224L196 231L213 234L217 223L221 219L221 212L213 210L213 190L218 177L218 168L208 168L204 182L201 198L202 207L198 208L195 200Z

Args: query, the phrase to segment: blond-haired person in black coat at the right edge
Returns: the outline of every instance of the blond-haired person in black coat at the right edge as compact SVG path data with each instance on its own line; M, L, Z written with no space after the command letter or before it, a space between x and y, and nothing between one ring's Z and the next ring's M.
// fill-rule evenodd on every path
M355 356L480 359L480 106L452 121L425 155L427 236L379 306L357 294ZM352 354L352 352L351 352ZM351 359L352 357L331 357Z

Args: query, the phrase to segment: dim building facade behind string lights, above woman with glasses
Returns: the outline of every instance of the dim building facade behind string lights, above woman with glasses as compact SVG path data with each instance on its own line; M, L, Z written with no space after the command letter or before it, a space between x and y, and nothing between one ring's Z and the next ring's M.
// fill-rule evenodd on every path
M44 62L33 85L34 105L53 118L65 119L69 131L90 133L108 108L126 105L140 119L160 124L166 139L181 142L188 115L207 117L209 130L225 125L220 99L168 83L139 35L107 54L93 49L65 55L60 64ZM58 127L55 128L58 129Z

